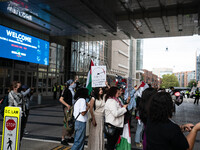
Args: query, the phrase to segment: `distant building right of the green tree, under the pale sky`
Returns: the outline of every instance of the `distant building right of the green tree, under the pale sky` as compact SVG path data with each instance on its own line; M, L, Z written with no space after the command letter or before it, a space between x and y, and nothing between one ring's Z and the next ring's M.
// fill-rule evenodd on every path
M177 77L180 87L187 87L191 80L195 79L195 71L184 71L174 73Z

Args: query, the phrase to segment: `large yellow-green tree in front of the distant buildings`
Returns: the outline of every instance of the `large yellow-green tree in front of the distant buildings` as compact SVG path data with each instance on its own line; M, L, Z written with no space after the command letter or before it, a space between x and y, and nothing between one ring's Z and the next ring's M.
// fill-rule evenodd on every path
M174 74L165 74L162 76L162 88L179 87L179 82Z

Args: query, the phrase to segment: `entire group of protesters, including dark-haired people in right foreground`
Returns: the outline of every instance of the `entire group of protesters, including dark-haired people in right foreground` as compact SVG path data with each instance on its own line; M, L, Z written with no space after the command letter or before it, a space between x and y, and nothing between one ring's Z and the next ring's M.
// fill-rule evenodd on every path
M65 109L68 111L72 107L74 109L75 132L74 144L71 149L84 149L89 111L91 118L89 119L88 150L103 150L105 147L104 137L107 138L106 148L117 150L117 142L124 132L123 127L126 123L130 123L131 117L127 116L136 108L135 97L131 100L131 90L128 92L126 89L122 95L123 89L121 87L109 87L107 84L106 89L94 88L91 96L86 88L80 88L75 94L72 94L70 89L73 90L75 82L71 80L67 82L68 86L60 98L64 112L66 112ZM135 90L132 91L134 91L132 94L135 95ZM88 101L89 97L90 102ZM144 150L193 149L197 132L200 130L200 123L196 125L191 123L177 125L174 123L171 120L173 100L170 93L149 87L138 97L136 117L138 119L136 136L138 137L135 138L136 143L140 144L142 141ZM105 128L110 128L110 131L106 131ZM73 133L66 133L64 130L65 126L63 126L61 143L68 144L65 135L72 137ZM142 131L143 136L141 136ZM189 132L186 137L183 134L185 131ZM143 138L141 139L141 137Z

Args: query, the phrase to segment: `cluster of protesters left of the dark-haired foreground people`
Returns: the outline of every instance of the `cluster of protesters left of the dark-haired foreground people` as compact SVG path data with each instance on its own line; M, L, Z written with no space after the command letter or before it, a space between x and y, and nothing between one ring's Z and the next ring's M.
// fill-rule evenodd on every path
M124 125L124 114L127 112L128 104L124 104L122 98L122 89L118 87L111 87L106 82L106 88L97 87L93 88L91 95L89 95L88 89L80 88L74 94L76 87L76 81L67 81L67 86L60 97L60 102L63 104L64 115L69 113L73 108L73 115L75 118L75 132L74 132L74 144L72 150L81 150L84 147L86 125L89 119L89 138L88 149L91 150L103 150L104 143L104 122L116 127L116 131L113 135L106 135L107 137L107 149L114 149L122 132ZM121 96L121 100L118 97ZM88 100L89 99L89 100ZM130 97L127 98L130 101ZM131 103L131 105L134 105ZM134 106L130 106L133 109ZM90 118L88 113L90 112ZM66 120L66 117L64 118ZM65 135L69 139L65 139ZM69 132L66 129L66 125L63 126L61 144L68 145L73 132Z

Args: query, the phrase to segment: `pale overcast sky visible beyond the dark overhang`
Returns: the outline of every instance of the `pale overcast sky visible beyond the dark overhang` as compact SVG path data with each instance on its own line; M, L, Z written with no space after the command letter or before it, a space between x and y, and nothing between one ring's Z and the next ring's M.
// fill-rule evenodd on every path
M144 39L143 68L173 68L173 72L195 70L200 36ZM168 51L166 50L168 48Z

